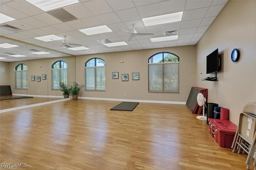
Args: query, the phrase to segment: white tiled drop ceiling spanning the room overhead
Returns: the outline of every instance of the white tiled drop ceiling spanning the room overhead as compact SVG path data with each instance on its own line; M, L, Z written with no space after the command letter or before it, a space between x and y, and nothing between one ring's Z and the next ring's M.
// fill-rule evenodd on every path
M0 24L0 35L71 55L195 45L228 2L228 0L74 1L76 1L75 4L42 10L36 6L38 4L31 4L33 1L30 0L1 0L0 13L14 20ZM52 0L51 3L53 2L62 1ZM173 13L181 14L180 21L166 21L164 24L156 25L146 24L145 18ZM134 36L131 37L129 32L134 33L133 24L135 24L137 32L154 34L133 34ZM95 31L94 27L97 26L107 26L110 31L94 35L84 34L80 31L87 28L92 28ZM55 35L62 39L49 42L35 39L48 35ZM73 51L69 48L77 46L60 47L64 41L64 35L67 36L68 43L80 44L86 49ZM168 40L154 42L162 38ZM1 39L1 43L2 41ZM117 42L126 45L109 47L110 43ZM14 48L16 47L12 47L13 51L8 51L8 49L0 47L0 50L1 53L2 51L17 53L18 49L21 50L21 47ZM52 57L54 56L52 54ZM27 58L30 57L32 59L32 57L40 56L27 56ZM0 61L4 61L4 59L0 59Z

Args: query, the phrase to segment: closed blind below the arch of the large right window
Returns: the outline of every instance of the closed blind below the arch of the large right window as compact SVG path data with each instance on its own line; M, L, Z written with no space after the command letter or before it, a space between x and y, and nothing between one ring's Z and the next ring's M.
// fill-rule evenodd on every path
M179 91L179 62L149 63L148 91Z

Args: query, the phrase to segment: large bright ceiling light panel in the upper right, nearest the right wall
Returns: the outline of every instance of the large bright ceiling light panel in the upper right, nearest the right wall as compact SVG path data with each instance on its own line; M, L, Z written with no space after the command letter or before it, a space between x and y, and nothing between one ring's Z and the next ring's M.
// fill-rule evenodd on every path
M183 12L176 12L161 16L153 16L149 18L142 18L145 26L154 26L159 24L167 24L172 22L179 22L182 19Z

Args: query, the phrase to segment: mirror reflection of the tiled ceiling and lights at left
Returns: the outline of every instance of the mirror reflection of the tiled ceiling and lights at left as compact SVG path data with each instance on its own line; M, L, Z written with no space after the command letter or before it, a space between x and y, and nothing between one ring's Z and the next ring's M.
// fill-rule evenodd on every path
M52 50L40 48L34 45L28 45L22 42L8 40L5 38L0 38L0 42L1 44L9 43L12 45L18 45L16 47L0 48L0 57L3 58L3 59L0 59L0 61L12 62L12 61L25 61L25 60L31 60L31 59L70 56L69 54L61 53L58 51L52 51Z

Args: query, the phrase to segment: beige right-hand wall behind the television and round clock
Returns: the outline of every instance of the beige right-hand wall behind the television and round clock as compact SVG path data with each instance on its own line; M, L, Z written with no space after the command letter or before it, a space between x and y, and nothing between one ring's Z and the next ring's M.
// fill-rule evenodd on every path
M201 81L206 75L206 56L219 49L218 81ZM238 62L231 51L240 50ZM228 1L197 44L196 84L208 89L208 102L230 109L230 121L238 125L244 105L256 101L256 1ZM202 72L202 77L200 77Z

